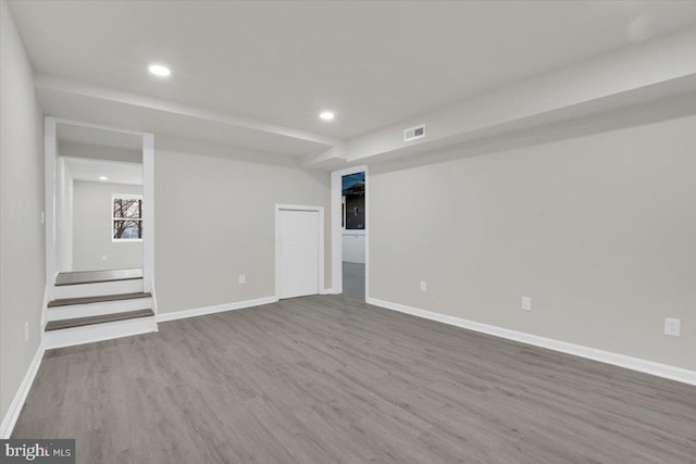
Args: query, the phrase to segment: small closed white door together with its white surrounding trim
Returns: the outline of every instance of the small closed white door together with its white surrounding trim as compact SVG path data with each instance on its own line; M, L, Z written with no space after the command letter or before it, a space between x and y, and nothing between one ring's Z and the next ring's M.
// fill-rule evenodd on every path
M318 294L324 286L324 209L276 205L276 294Z

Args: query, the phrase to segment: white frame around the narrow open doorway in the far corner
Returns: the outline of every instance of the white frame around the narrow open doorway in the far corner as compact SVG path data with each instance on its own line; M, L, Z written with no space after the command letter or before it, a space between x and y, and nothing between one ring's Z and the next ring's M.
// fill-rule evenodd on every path
M343 177L365 173L365 301L370 298L370 173L368 166L355 166L331 173L331 279L332 293L344 292L344 231L341 223Z

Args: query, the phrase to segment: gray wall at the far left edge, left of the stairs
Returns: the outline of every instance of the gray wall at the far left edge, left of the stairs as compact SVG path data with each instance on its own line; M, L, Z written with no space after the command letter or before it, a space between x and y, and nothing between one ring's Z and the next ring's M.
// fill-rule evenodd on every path
M44 120L32 68L0 2L0 421L40 339L45 289ZM24 324L29 340L24 341Z

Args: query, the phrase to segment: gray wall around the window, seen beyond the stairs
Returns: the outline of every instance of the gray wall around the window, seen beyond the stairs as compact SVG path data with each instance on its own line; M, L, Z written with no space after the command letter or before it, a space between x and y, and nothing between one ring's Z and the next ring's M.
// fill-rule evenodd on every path
M141 241L111 241L111 196L142 195L142 186L84 180L73 186L73 271L142 267Z

